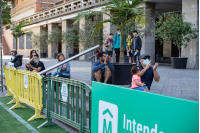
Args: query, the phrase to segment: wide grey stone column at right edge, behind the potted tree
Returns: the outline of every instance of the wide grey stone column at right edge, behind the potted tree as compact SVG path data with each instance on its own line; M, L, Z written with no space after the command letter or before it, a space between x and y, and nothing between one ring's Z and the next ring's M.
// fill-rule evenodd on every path
M185 21L194 24L193 28L199 29L199 1L182 0L182 13L185 13ZM181 57L188 57L187 68L199 68L199 35L192 39L186 48L181 48Z

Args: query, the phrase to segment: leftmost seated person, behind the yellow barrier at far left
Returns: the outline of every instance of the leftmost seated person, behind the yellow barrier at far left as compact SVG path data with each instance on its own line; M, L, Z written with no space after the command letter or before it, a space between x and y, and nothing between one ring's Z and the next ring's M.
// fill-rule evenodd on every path
M10 60L10 62L7 62L6 66L12 66L15 68L18 68L22 65L22 55L17 54L17 51L11 51L11 55L14 57L13 60Z

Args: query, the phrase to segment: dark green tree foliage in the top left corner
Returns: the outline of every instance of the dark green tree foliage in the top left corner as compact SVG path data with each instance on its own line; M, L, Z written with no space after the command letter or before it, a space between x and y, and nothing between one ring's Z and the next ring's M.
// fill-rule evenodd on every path
M8 24L11 17L10 17L10 11L11 11L11 3L8 1L1 1L1 7L2 7L2 22L3 25Z

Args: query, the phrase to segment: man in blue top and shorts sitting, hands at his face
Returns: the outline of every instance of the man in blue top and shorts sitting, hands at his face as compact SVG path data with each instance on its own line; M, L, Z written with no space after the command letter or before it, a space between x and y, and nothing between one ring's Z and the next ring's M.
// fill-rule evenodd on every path
M94 71L94 81L112 83L111 71L114 71L114 67L105 52L98 54L98 60L94 62L92 70Z

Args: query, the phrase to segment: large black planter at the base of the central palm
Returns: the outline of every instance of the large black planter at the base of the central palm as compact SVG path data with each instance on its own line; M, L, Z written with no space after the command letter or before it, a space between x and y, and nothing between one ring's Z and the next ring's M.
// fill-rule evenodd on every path
M131 68L136 64L124 63L113 64L115 70L112 72L113 84L115 85L127 85L131 84L132 74Z

